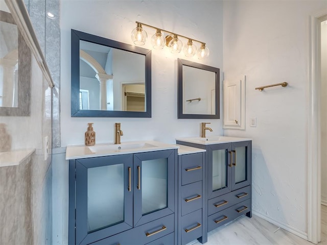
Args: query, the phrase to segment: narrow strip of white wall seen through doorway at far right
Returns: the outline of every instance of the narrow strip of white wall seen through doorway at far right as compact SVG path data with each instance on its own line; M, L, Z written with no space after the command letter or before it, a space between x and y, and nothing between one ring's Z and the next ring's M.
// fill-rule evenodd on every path
M327 205L327 22L321 23L321 203Z

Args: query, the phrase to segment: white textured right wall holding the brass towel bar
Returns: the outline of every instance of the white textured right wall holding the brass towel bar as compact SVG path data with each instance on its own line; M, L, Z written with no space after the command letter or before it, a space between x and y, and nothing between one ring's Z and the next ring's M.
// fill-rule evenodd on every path
M325 1L224 2L224 76L246 75L246 130L253 139L255 214L307 236L309 15ZM255 87L288 82L289 86ZM249 127L249 118L257 127Z

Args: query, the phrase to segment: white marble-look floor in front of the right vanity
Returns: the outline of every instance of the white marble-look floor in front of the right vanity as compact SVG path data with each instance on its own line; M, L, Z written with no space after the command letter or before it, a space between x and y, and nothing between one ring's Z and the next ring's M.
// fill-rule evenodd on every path
M321 242L327 245L327 206L321 207ZM188 245L200 245L195 241ZM252 218L242 216L232 223L208 233L206 245L312 245L286 230L253 215Z

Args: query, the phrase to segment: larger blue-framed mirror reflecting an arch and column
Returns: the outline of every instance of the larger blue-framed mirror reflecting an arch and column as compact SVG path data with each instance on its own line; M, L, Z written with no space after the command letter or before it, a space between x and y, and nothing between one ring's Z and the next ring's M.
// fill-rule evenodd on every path
M151 117L151 51L71 31L73 117Z

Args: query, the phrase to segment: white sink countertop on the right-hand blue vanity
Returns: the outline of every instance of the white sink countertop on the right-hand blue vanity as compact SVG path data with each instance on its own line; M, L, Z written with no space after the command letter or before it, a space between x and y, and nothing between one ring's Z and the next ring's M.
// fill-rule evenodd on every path
M219 143L227 143L227 142L246 141L251 139L217 135L217 136L209 136L205 138L202 137L177 138L176 140L196 143L196 144L219 144Z

